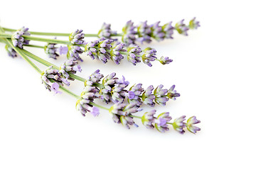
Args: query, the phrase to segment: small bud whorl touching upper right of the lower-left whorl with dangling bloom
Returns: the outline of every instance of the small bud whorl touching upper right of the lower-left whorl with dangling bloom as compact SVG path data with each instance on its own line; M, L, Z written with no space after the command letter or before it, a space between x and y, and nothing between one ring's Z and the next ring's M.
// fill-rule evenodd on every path
M78 65L78 61L73 58L60 65L60 74L66 79L75 80L70 77L70 74L76 74L76 72L82 72L82 69Z

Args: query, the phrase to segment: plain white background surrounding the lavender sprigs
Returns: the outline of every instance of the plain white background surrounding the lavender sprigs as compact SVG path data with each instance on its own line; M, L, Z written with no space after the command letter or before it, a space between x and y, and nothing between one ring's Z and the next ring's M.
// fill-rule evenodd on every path
M202 130L161 134L139 121L127 130L106 111L84 118L75 98L46 91L40 75L1 44L0 169L255 169L255 14L253 1L1 1L1 26L31 31L97 33L103 22L121 30L130 19L167 23L196 16L201 28L188 37L176 33L174 40L150 44L173 63L134 67L84 58L80 75L100 69L144 87L176 84L181 97L157 106L158 113L196 115ZM65 60L28 50L57 64ZM82 83L69 89L80 94Z

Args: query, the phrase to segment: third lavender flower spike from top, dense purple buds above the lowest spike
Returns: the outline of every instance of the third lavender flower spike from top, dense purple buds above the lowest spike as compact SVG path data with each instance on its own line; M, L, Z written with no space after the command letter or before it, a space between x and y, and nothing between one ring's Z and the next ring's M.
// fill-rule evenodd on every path
M163 85L159 85L156 89L154 89L154 86L149 86L144 90L142 84L134 84L128 90L129 81L126 81L124 77L122 79L117 78L115 72L103 77L100 74L100 70L97 69L90 77L87 77L85 86L95 86L98 90L99 98L104 103L124 102L127 99L128 103L134 103L137 108L142 103L154 107L156 103L164 106L169 101L169 98L174 99L180 96L174 90L175 86L171 86L169 90L163 89Z

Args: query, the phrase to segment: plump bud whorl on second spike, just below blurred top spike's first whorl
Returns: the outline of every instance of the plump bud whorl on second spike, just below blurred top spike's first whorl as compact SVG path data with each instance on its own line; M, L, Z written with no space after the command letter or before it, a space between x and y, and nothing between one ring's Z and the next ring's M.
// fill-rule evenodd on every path
M98 58L103 63L110 60L110 50L112 48L113 40L105 40L105 38L100 38L99 40L94 40L85 45L85 55L90 56L92 60Z

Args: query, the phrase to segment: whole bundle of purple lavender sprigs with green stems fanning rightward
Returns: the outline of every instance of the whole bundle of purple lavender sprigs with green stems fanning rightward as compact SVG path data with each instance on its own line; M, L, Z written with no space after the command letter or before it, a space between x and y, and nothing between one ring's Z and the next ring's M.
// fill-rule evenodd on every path
M152 39L160 41L165 38L173 38L175 30L182 35L188 35L189 29L196 29L200 26L196 18L193 18L188 25L183 21L176 23L175 26L172 26L172 22L160 26L160 22L149 25L146 21L134 26L132 21L128 21L122 29L122 33L111 30L110 24L104 23L97 34L85 34L82 33L82 30L75 30L73 33L41 33L30 32L25 27L18 30L0 27L0 42L6 44L6 50L10 57L23 57L41 74L42 83L48 91L53 91L54 94L61 94L63 91L77 98L76 108L83 116L87 113L97 116L100 114L100 109L104 109L109 111L114 123L122 123L128 129L131 125L137 127L134 122L134 118L137 118L142 121L146 128L156 128L159 132L169 130L169 125L172 125L174 130L181 134L185 132L185 128L189 132L196 133L201 130L195 126L195 124L200 123L196 116L188 118L185 122L186 116L182 115L171 122L172 118L169 112L156 115L156 110L151 110L142 116L136 114L142 111L142 105L165 106L169 99L175 101L180 96L175 90L175 85L171 86L170 89L164 89L162 84L156 88L149 86L146 89L142 87L141 83L129 86L129 81L126 81L124 77L119 79L114 72L104 76L99 69L92 72L87 78L75 75L77 72L82 72L78 64L78 62L82 62L82 53L103 63L112 60L119 64L122 59L127 58L134 65L144 62L151 67L151 62L155 60L161 64L169 64L172 62L169 57L157 58L155 49L146 47L142 50L138 42L142 44L143 42L149 43ZM31 35L68 36L68 40L39 38ZM85 37L97 37L97 40L86 42ZM121 41L118 40L119 37ZM47 44L44 46L33 45L31 41L41 41ZM44 49L48 57L55 60L60 55L66 55L67 61L58 67L25 50L27 46ZM47 68L41 71L30 58L47 66ZM80 96L65 88L65 86L70 86L70 81L75 79L84 82ZM105 108L95 103L95 99L100 99L107 104L112 103L112 106Z

